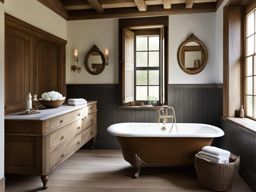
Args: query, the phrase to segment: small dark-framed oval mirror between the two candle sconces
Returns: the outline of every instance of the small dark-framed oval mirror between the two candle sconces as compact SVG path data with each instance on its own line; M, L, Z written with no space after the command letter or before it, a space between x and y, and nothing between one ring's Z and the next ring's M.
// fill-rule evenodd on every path
M99 48L94 45L85 56L84 60L86 70L92 75L98 75L102 73L105 68L105 56L99 50Z

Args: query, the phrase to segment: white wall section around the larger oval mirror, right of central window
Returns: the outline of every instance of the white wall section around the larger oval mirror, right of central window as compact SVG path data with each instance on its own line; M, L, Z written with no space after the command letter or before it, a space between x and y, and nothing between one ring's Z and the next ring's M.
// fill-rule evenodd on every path
M181 70L177 61L180 44L194 33L208 49L208 63L204 70L189 75ZM215 13L171 15L169 17L169 84L216 83Z

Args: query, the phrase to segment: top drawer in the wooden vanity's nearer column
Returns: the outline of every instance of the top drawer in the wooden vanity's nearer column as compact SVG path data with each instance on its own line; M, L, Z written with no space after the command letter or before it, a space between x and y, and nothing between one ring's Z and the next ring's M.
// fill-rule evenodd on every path
M82 109L50 119L49 128L54 130L78 119L82 119Z

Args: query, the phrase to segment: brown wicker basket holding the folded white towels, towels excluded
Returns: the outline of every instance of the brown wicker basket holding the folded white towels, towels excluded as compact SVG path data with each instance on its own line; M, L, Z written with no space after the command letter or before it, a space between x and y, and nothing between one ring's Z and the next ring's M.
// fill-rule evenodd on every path
M231 155L229 163L216 164L195 156L195 168L199 183L215 191L229 191L238 171L240 157Z

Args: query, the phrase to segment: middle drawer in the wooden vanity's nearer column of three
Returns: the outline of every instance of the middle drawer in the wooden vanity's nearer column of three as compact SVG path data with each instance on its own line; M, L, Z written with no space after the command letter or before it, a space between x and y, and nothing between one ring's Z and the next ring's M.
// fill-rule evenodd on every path
M52 152L58 146L64 144L70 138L79 134L82 130L81 121L82 120L77 120L52 133L50 135L50 151Z

